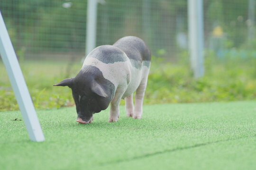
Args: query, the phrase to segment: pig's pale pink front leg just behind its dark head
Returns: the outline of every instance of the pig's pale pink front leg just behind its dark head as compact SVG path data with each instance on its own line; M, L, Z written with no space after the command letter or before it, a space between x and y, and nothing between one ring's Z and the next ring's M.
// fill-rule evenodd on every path
M110 103L110 117L109 122L116 122L119 118L119 103L121 101L123 93L116 92L115 96Z

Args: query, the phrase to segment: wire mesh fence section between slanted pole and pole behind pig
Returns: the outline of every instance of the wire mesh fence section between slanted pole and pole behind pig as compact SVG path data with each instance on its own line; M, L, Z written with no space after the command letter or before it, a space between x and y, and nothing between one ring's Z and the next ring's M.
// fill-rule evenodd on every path
M18 57L83 55L86 1L6 0L0 10Z

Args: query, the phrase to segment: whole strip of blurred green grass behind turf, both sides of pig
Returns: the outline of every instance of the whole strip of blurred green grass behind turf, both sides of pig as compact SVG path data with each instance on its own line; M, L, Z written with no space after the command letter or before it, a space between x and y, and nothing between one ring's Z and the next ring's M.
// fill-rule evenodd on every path
M230 51L218 60L212 51L206 51L205 76L199 79L192 76L187 52L179 56L175 63L152 57L144 104L256 99L254 52ZM0 65L0 73L5 73L0 75L0 110L18 110L8 77ZM66 75L66 62L21 62L21 68L36 109L74 105L69 88L53 85L68 76L75 76L81 68L79 62L69 68L71 75Z

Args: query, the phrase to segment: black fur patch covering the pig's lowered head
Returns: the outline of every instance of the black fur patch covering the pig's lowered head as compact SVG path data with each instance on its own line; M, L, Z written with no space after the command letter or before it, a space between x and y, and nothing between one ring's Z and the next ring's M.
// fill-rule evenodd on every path
M102 97L92 92L91 86L95 81L101 85L108 97ZM71 89L77 115L84 121L89 121L92 114L107 109L116 90L115 86L103 77L101 70L94 66L84 67L74 78Z

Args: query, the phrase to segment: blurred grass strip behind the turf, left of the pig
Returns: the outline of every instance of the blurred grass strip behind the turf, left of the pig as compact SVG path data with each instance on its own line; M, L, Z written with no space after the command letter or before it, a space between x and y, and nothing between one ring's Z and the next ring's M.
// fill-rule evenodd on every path
M10 87L6 71L3 64L0 65L0 72L4 73L0 75L0 110L18 110L18 104ZM36 109L74 105L69 88L53 87L54 84L65 78L66 62L26 61L20 62L20 65ZM79 67L79 64L72 66L73 74L79 70Z

